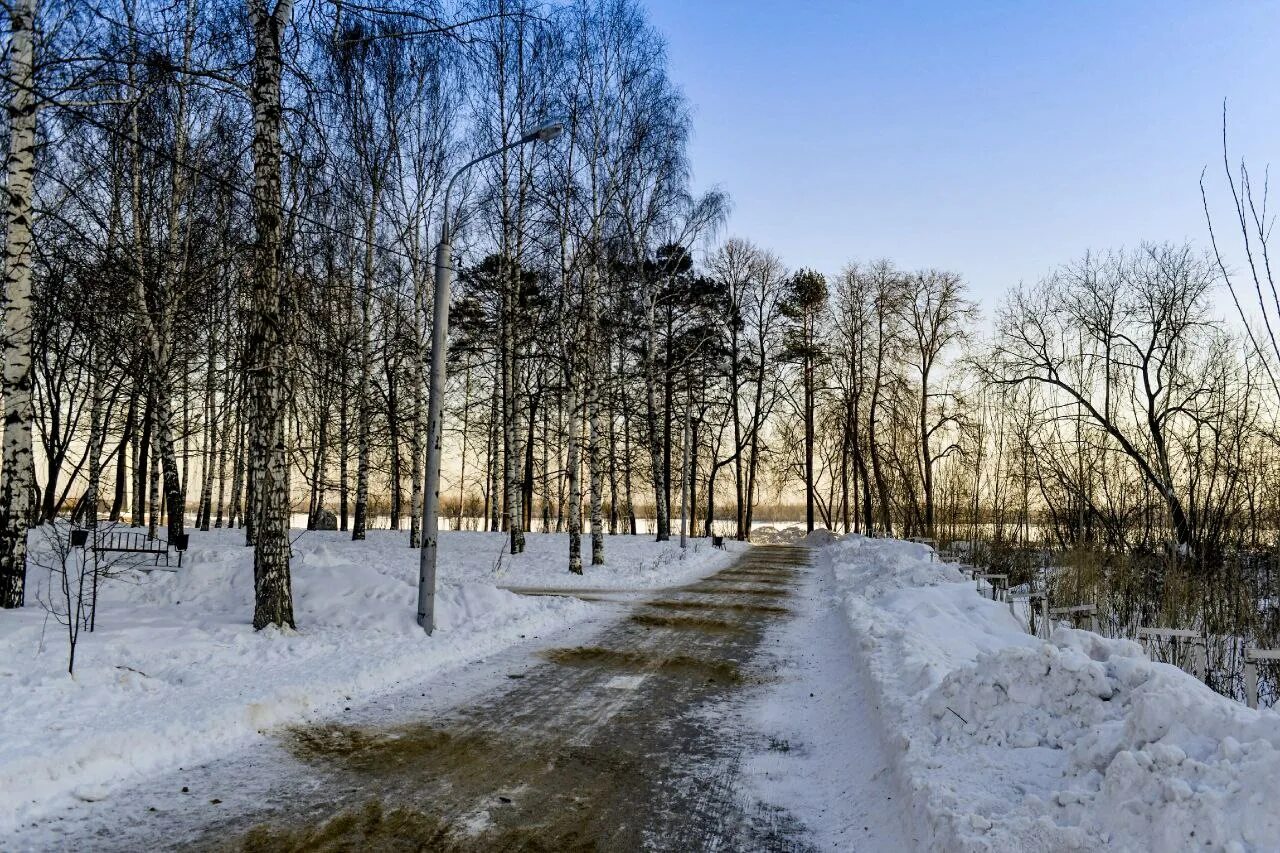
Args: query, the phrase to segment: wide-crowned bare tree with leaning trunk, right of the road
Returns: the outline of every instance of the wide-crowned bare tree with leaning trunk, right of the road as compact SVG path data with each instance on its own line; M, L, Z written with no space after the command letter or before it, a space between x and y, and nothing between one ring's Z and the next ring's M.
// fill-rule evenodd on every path
M1087 256L1010 297L987 374L1079 403L1164 501L1185 548L1201 546L1204 530L1188 511L1176 441L1213 393L1203 373L1216 334L1206 314L1212 282L1187 246ZM1073 352L1076 338L1088 346Z

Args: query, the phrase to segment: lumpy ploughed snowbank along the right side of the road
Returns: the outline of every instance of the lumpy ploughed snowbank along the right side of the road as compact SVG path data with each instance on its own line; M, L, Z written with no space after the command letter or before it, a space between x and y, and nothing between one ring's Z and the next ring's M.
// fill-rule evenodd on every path
M1280 849L1280 713L1130 642L1038 640L925 546L854 535L819 560L922 849Z

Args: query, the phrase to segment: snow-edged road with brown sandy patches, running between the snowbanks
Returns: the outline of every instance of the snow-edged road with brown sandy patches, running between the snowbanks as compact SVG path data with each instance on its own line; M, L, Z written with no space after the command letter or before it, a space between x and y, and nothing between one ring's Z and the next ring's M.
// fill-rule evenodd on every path
M911 849L809 552L23 829L19 849ZM406 847L407 845L407 847Z

